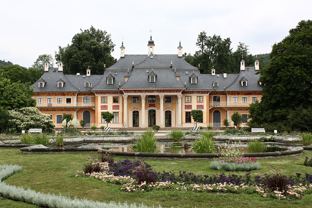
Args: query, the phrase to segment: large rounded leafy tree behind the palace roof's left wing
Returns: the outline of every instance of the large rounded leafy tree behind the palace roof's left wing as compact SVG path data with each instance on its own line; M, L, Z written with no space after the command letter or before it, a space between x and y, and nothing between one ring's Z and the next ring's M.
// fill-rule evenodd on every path
M59 46L59 52L55 54L56 60L64 62L65 74L84 74L88 67L92 74L103 74L104 64L108 67L116 62L110 55L115 44L106 31L96 30L91 25L90 29L80 29L71 42L64 48Z

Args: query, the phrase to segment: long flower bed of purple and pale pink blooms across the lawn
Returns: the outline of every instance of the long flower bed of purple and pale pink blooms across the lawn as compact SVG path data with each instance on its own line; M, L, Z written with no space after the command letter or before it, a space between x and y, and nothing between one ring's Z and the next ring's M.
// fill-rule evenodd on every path
M219 158L221 159L221 158ZM232 161L233 159L225 160ZM245 158L246 159L246 158ZM255 161L253 158L246 159ZM235 160L236 161L236 160ZM236 161L238 162L238 161ZM234 163L234 162L233 162ZM239 162L236 164L240 164ZM192 172L174 171L155 173L151 171L151 166L146 162L123 160L115 163L101 163L102 172L92 172L85 174L78 171L76 177L94 177L107 183L122 185L121 190L131 192L144 192L155 190L177 190L195 192L215 192L215 193L258 193L263 197L271 197L279 200L301 199L305 193L312 193L312 175L305 173L302 177L300 173L295 176L285 176L289 184L284 190L272 190L266 186L266 181L270 175L256 176L251 178L251 173L245 176L224 173L212 176L196 175ZM112 171L114 170L114 172ZM154 182L143 181L142 178L156 179Z

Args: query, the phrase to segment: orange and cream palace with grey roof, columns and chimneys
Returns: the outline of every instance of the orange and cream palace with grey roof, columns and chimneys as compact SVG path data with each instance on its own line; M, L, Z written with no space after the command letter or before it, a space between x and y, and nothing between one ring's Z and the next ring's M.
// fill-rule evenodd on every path
M64 75L62 61L57 68L46 61L44 74L32 85L33 99L56 127L61 127L63 113L84 119L87 126L106 126L105 111L114 114L108 124L112 128L191 128L192 109L203 111L198 126L222 127L234 112L248 121L249 104L262 96L260 75L255 74L258 60L254 67L241 60L239 74L216 74L214 68L200 74L183 59L181 42L175 55L157 55L154 46L151 36L147 54L127 55L122 43L120 59L103 75L92 75L89 68L85 75Z

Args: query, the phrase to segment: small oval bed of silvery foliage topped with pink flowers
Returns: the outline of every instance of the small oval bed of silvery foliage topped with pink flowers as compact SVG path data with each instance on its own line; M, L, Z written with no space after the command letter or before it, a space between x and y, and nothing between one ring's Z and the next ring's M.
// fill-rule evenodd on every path
M210 163L213 170L224 171L253 171L260 168L259 162L255 157L218 157Z

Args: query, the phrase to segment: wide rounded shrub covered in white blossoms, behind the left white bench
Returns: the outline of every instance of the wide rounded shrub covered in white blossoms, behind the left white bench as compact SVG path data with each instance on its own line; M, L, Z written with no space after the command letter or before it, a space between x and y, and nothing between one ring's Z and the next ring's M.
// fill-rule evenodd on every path
M54 132L54 124L49 115L42 114L36 107L9 110L8 132L21 132L30 128L42 128L43 132Z

